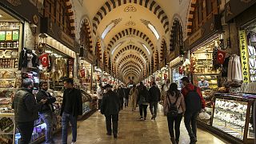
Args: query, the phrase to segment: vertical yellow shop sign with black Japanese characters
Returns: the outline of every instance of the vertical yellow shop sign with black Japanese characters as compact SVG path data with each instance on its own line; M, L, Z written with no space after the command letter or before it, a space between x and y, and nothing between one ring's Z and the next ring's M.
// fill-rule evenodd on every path
M248 50L247 50L247 42L246 42L246 31L239 31L239 41L240 41L240 53L241 53L241 62L242 62L242 79L244 83L250 82L250 73L248 66Z

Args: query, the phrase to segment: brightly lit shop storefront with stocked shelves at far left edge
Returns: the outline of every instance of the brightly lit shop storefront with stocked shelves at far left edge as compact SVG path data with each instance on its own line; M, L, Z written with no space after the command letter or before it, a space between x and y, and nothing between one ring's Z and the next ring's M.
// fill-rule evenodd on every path
M26 10L30 9L30 13ZM34 51L34 26L38 25L38 8L30 1L0 2L0 139L14 143L20 139L15 127L11 102L14 93L22 86L22 78L34 81L34 92L38 90L37 54ZM30 45L29 45L30 43ZM26 50L26 53L22 53ZM23 55L22 55L23 54ZM27 56L26 63L22 63ZM34 138L35 139L35 138ZM33 140L34 140L33 139Z

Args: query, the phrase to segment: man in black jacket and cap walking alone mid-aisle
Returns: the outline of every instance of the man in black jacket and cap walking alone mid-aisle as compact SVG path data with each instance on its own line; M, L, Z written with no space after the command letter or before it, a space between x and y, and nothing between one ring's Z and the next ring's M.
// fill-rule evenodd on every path
M113 122L114 138L118 138L118 114L119 114L119 98L118 94L111 90L112 86L105 86L106 94L102 98L101 113L106 117L106 131L108 135L112 134L111 119Z

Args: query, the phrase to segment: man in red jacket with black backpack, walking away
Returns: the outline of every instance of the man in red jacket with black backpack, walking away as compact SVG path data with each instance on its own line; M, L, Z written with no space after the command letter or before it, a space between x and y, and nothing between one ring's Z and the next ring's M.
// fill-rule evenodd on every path
M186 112L184 114L184 122L186 130L190 135L190 143L196 143L197 140L197 118L201 110L206 107L205 100L202 97L202 92L198 86L192 85L189 78L182 79L182 94L185 98Z

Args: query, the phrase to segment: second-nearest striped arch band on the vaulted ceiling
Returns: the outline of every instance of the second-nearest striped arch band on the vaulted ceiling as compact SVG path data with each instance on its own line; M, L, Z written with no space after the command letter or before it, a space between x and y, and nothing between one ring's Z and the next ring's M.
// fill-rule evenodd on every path
M111 41L109 42L109 44L107 45L107 50L110 51L110 49L113 47L115 42L118 42L119 39L125 37L126 35L136 35L139 38L144 39L150 46L151 50L154 51L154 45L151 42L150 38L148 36L146 36L146 34L142 33L139 30L133 29L133 28L129 28L126 30L122 30L121 32L119 32L118 34L116 34Z

